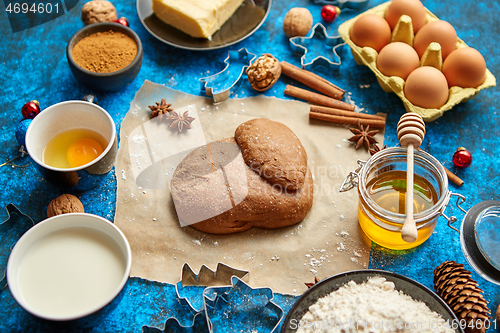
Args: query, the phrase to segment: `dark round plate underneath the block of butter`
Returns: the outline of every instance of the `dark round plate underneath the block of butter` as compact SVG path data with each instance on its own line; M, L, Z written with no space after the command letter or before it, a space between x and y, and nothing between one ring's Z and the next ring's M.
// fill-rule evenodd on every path
M137 14L146 28L160 41L188 50L215 50L238 43L264 23L272 0L245 0L211 40L193 38L164 23L153 13L152 0L137 0Z

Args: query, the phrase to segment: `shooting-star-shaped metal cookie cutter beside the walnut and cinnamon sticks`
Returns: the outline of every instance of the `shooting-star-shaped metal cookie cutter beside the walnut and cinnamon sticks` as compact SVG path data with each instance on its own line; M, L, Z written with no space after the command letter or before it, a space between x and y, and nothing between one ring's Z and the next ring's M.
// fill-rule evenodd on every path
M256 55L248 52L246 48L228 51L224 60L226 67L217 74L200 79L201 91L212 97L214 103L225 101L238 88L245 69L252 64L255 57Z

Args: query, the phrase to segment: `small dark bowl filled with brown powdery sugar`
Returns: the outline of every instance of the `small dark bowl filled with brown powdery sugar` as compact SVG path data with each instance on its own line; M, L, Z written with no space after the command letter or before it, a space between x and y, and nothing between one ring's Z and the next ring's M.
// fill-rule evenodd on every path
M142 44L130 28L118 23L90 24L69 40L66 57L78 82L102 91L118 91L141 69Z

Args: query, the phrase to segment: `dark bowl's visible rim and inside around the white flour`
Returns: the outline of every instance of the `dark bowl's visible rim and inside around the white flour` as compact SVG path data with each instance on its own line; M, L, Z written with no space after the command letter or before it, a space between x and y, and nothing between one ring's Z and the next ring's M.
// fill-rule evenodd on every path
M288 312L285 321L283 322L283 326L281 327L281 333L295 332L300 319L307 312L309 306L316 303L319 298L339 289L349 281L354 281L359 284L367 281L373 276L382 276L385 277L387 281L394 282L397 290L403 291L415 300L424 302L431 310L439 313L444 320L449 320L450 325L454 322L458 322L457 317L453 314L448 305L446 305L446 303L436 293L426 286L396 273L366 269L346 272L329 277L308 289L304 294L302 294L302 296L300 296ZM457 328L456 332L463 333L460 327Z

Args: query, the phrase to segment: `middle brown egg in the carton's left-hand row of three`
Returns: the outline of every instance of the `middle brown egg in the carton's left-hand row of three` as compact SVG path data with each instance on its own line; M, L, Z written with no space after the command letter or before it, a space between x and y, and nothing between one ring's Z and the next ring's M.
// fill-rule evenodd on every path
M377 68L382 74L399 76L403 80L419 65L420 59L415 49L401 42L387 44L377 57Z

